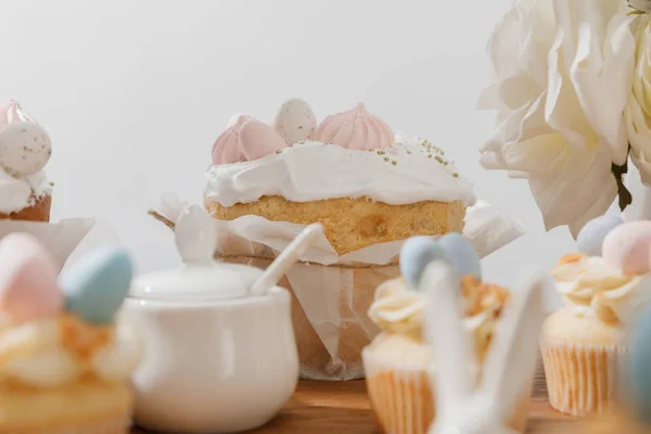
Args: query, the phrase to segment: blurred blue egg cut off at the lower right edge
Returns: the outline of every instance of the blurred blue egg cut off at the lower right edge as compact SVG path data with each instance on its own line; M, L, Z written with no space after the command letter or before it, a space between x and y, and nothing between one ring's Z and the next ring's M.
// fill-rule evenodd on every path
M651 310L631 333L630 365L624 371L630 404L646 423L651 423Z

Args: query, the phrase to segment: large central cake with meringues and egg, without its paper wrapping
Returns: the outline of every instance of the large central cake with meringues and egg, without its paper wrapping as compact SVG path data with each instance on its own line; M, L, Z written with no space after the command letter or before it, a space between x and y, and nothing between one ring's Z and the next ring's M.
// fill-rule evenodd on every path
M461 232L471 183L426 140L396 137L363 104L317 118L292 99L271 125L238 115L213 146L205 205L323 225L340 255L412 235Z

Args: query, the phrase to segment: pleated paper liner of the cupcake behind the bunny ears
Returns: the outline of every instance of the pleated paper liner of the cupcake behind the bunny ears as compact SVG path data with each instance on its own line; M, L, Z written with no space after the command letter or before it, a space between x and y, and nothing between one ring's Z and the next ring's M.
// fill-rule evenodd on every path
M362 353L366 381L376 423L387 434L427 434L435 418L434 394L427 369L414 365L386 365L370 352ZM529 382L510 418L509 426L526 427Z

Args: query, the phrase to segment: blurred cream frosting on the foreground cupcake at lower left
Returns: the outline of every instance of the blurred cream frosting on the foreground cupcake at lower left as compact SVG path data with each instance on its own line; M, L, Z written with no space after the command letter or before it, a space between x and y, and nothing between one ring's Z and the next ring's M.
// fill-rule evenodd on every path
M123 382L140 361L141 348L139 336L125 320L95 327L63 314L13 323L0 314L0 385Z

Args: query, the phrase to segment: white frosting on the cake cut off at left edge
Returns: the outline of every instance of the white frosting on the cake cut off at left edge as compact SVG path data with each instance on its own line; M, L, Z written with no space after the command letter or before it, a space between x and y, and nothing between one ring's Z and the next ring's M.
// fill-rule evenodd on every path
M14 178L0 167L0 213L20 212L51 193L52 186L48 181L44 170Z

